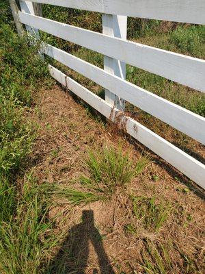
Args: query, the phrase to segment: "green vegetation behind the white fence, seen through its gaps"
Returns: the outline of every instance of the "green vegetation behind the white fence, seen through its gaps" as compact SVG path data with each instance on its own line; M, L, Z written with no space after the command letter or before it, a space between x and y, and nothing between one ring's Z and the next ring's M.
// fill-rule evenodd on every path
M85 29L102 32L101 15L94 12L57 8L51 5L43 5L44 16L53 20L77 25ZM94 51L84 49L70 42L48 34L42 34L43 39L49 39L51 44L71 52L83 60L100 68L103 67L103 56ZM158 20L140 18L128 18L128 39L159 47L195 58L205 59L205 27L200 25L186 25L182 23L170 23ZM77 82L96 92L97 85L87 80L78 73L65 70ZM201 92L191 90L175 82L169 81L158 75L148 73L139 68L127 65L127 80L137 86L141 86L173 103L181 105L196 114L205 116L205 96ZM102 90L99 86L98 90ZM127 106L128 111L139 111L133 105ZM134 110L133 110L134 109ZM143 114L143 112L141 112Z

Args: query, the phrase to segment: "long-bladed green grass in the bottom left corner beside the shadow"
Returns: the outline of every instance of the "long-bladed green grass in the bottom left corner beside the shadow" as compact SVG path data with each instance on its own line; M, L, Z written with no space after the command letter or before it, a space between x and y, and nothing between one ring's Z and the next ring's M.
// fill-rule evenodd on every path
M1 273L37 274L49 265L49 252L59 245L62 235L55 232L55 219L48 218L51 195L44 190L35 182L26 182L18 195L15 216L1 223Z

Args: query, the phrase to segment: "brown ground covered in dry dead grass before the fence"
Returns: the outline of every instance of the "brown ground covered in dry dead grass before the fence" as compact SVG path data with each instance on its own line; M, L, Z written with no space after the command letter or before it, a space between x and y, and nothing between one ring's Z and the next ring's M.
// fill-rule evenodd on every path
M38 139L31 161L40 184L75 187L86 172L87 149L117 147L120 142L134 161L142 154L152 156L143 173L110 200L87 206L65 203L51 210L63 212L57 229L68 231L51 259L53 273L203 273L204 193L60 86L40 90L35 103L31 116ZM169 203L172 210L159 231L143 227L133 216L130 195ZM131 224L133 232L126 229Z

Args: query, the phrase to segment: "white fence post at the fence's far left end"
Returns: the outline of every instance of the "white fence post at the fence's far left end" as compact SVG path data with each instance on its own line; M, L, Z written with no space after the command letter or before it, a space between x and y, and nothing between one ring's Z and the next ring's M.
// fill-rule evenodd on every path
M35 15L34 9L33 9L33 3L29 1L19 1L20 9L22 12L27 12L28 14ZM31 27L30 25L25 26L27 29L27 33L32 36L33 38L36 38L37 40L40 39L38 29L35 29Z

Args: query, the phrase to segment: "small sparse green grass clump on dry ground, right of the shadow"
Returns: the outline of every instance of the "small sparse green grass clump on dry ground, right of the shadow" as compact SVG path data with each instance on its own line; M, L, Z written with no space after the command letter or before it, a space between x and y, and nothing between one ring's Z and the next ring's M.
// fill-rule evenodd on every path
M170 204L164 201L157 203L155 197L131 196L131 200L133 214L137 220L141 221L143 228L151 232L158 232L169 216ZM133 232L136 230L133 225L129 225L127 228Z

